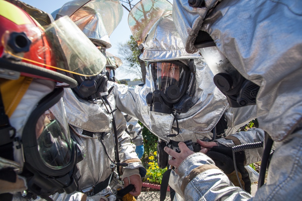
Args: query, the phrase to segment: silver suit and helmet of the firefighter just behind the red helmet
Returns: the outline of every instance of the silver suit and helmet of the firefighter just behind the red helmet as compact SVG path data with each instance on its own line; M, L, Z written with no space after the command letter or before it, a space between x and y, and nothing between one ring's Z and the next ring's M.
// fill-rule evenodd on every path
M81 4L85 6L76 9ZM123 9L118 0L88 2L74 0L67 2L62 8L52 13L53 17L66 14L95 45L108 49L111 47L109 36L119 24ZM104 49L101 50L105 51ZM86 77L83 80L85 79ZM63 99L71 132L85 154L84 159L77 164L81 172L79 191L68 195L56 194L53 198L55 200L78 200L82 195L80 191L87 191L88 188L97 187L97 184L103 181L107 182L106 179L114 171L114 164L111 160L117 162L115 161L115 138L112 123L114 120L117 129L120 163L128 163L127 167L120 168L120 172L124 173L121 180L123 181L124 177L134 174L144 177L146 169L138 159L135 146L130 142L130 137L125 132L124 116L120 110L115 110L114 96L112 94L107 96L109 106L102 101L101 96L103 95L98 96L97 99L94 98L93 101L86 101L75 95L74 91L66 90ZM111 112L114 112L114 119ZM101 196L112 194L111 190L107 187L100 192L87 193L92 195L87 200L100 200Z

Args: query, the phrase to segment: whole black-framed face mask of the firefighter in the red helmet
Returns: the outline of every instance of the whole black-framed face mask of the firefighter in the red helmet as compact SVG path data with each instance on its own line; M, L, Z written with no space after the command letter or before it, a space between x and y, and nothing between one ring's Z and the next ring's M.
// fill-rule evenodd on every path
M63 88L56 88L45 96L32 111L22 133L23 172L30 172L27 187L40 197L55 192L72 193L80 177L77 146L70 137L63 93Z

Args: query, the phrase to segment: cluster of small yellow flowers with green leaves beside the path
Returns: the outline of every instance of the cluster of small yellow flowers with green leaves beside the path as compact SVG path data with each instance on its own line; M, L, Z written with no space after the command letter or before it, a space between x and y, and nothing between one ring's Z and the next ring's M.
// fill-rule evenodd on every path
M147 174L144 178L144 181L152 184L161 184L162 183L162 174L166 171L166 169L160 169L156 162L157 152L153 152L153 155L149 156L149 162L146 166Z

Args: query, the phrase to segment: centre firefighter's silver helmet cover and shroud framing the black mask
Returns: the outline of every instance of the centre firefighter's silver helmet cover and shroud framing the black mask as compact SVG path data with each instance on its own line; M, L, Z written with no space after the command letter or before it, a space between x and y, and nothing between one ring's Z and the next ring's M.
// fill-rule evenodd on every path
M152 42L154 41L154 42ZM172 17L161 18L156 27L149 32L145 50L140 56L145 61L172 61L180 60L188 65L189 59L194 59L196 65L196 88L193 96L193 106L187 113L177 116L180 135L173 137L174 141L186 141L207 137L217 124L223 113L229 107L226 97L213 82L213 74L204 59L198 54L189 54L177 33ZM150 75L147 69L146 84L140 90L135 114L138 119L146 123L146 127L161 139L169 141L168 134L177 133L176 124L172 123L173 116L158 112L150 112L146 107L146 95L150 89ZM145 90L143 90L145 89ZM164 121L163 121L164 118ZM173 124L173 126L172 126ZM160 127L158 125L161 125ZM201 136L198 136L199 133Z

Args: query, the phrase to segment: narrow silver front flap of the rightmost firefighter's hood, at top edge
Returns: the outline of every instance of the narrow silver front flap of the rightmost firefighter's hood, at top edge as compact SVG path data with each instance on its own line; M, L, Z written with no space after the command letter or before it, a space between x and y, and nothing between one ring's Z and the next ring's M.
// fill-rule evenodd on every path
M193 8L189 6L188 0L173 0L174 23L187 52L197 52L194 42L200 27L208 11L218 2L218 0L204 0L203 8Z

